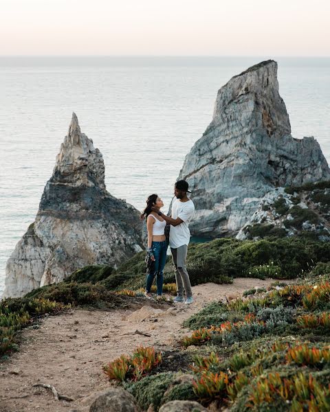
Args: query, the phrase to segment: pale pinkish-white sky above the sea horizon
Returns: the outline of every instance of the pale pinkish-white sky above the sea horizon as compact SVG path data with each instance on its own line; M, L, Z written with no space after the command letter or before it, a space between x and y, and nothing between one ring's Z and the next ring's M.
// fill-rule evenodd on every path
M330 56L329 0L0 0L0 55Z

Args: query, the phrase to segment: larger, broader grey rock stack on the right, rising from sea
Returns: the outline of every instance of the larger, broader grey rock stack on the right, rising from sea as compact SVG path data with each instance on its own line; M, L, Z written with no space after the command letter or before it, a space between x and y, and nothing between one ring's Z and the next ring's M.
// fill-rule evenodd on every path
M233 236L275 187L330 179L314 137L294 139L278 93L277 63L234 76L218 92L213 119L186 156L179 179L192 190L193 236Z

